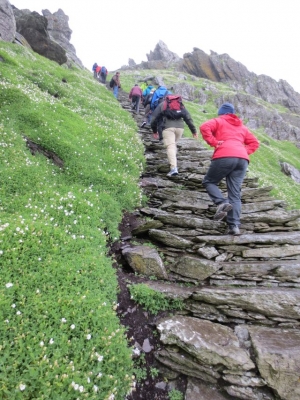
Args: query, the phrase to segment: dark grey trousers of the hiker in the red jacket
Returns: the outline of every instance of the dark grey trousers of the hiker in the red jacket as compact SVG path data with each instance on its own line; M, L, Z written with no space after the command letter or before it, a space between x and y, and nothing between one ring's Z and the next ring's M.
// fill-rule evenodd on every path
M212 160L210 167L203 179L203 186L215 204L228 202L232 210L227 214L227 224L240 225L242 209L241 187L248 168L248 161L244 158L224 157ZM228 200L217 186L222 179L226 179Z

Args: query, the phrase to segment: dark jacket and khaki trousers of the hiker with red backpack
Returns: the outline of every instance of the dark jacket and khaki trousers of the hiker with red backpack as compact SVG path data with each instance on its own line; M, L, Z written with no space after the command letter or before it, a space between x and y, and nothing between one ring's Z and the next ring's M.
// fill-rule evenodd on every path
M167 176L170 177L178 175L176 157L177 142L182 138L184 131L184 122L189 127L194 138L198 138L198 134L197 129L194 126L192 117L186 108L184 109L184 113L182 114L181 118L169 119L164 116L163 105L164 102L162 101L160 104L158 104L158 106L152 113L151 129L154 139L159 139L158 128L161 123L163 142L165 147L167 148L167 157L170 164L170 172L167 174Z

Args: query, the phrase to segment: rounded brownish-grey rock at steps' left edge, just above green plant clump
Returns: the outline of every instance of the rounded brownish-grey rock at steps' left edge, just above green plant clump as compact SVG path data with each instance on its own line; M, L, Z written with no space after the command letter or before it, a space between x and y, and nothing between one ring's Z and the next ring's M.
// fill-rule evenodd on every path
M122 251L131 268L139 274L167 279L163 262L155 249L148 246L134 246Z

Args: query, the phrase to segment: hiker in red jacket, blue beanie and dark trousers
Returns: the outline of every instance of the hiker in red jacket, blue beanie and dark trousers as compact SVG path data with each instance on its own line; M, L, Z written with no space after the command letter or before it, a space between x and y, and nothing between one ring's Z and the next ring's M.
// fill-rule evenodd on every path
M218 206L214 219L221 221L227 216L227 233L240 235L241 186L248 168L249 154L259 148L259 141L234 114L232 104L222 104L218 116L200 126L203 139L215 148L202 183ZM217 186L223 178L226 179L228 199L223 197Z

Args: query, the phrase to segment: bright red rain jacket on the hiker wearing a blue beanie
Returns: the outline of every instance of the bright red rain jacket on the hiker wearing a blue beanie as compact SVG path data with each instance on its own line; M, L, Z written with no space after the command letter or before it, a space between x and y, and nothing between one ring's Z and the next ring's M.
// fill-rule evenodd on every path
M212 159L238 157L249 161L259 148L258 139L235 114L220 115L200 126L203 139L215 148Z

